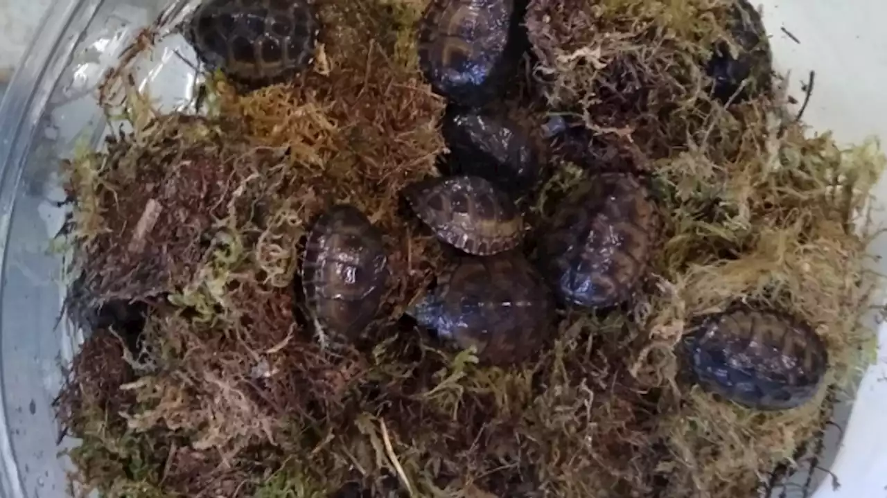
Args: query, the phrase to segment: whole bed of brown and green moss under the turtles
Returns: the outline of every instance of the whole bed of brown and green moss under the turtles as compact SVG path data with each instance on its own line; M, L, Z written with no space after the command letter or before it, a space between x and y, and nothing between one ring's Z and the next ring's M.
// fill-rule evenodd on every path
M530 4L534 108L581 133L546 152L551 175L528 219L544 226L559 198L616 164L645 173L665 230L629 305L561 310L553 344L506 369L402 318L451 257L397 195L435 175L443 151L444 102L414 46L423 2L321 4L308 73L246 95L214 75L205 118L153 113L130 88L132 131L64 165L68 304L147 309L141 330L103 323L67 370L59 422L82 440L72 489L754 495L874 352L860 323L878 284L865 208L883 158L873 143L806 136L778 92L728 107L711 98L703 68L729 38L728 5ZM392 284L364 338L325 347L303 318L297 270L310 223L334 202L384 232ZM825 339L830 369L813 401L762 413L684 380L686 324L737 301Z

